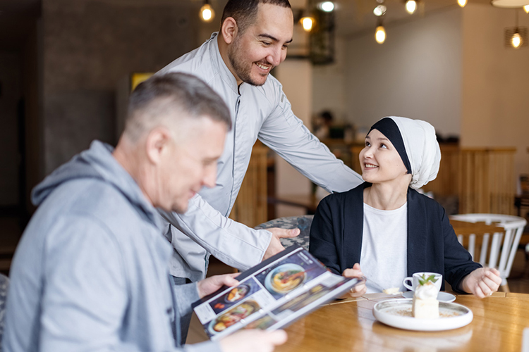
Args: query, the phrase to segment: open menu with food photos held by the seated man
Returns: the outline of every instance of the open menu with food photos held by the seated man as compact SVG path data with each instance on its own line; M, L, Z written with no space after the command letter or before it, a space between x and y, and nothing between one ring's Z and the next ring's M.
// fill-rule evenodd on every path
M281 253L236 277L193 309L212 339L238 329L280 329L359 284L333 274L300 246Z

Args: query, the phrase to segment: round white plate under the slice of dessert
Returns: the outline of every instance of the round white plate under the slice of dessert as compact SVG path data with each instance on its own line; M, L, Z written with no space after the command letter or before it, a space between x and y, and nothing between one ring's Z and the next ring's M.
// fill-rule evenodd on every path
M386 325L416 331L442 331L470 324L472 310L457 303L439 302L439 319L418 319L411 316L411 299L381 301L373 307L373 315Z

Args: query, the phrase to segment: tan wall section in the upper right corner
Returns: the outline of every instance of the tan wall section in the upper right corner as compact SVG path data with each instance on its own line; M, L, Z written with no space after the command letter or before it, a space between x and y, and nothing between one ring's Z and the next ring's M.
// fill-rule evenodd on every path
M516 146L515 175L529 173L529 47L504 47L512 9L468 4L463 12L463 146ZM519 25L529 15L519 10Z

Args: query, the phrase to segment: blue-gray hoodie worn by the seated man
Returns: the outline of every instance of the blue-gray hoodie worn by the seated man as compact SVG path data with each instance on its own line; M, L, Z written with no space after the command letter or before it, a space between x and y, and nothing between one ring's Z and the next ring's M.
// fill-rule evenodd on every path
M220 351L211 341L177 348L171 324L190 312L196 284L169 282L159 215L111 152L92 142L33 190L4 351Z

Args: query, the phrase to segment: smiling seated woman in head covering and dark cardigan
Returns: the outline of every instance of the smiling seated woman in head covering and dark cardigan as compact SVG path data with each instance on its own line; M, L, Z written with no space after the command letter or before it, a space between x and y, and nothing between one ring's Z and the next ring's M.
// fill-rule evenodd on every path
M497 291L498 270L473 262L444 208L416 191L435 179L440 160L428 122L382 118L360 152L365 182L320 202L310 253L337 274L367 277L365 287L351 295L390 287L403 291L403 279L414 272L439 272L454 291L480 298Z

